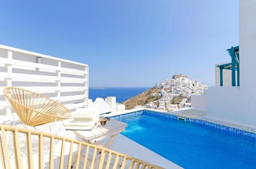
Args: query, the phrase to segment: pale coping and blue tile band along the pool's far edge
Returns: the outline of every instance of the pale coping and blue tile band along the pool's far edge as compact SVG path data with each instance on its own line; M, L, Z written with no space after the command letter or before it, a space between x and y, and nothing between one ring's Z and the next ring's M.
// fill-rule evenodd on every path
M116 116L120 116L120 115L136 113L136 112L143 111L143 110L156 112L156 114L158 114L158 113L166 114L169 117L172 116L172 118L177 118L177 119L179 118L179 114L177 114L177 111L172 113L172 112L167 112L167 111L163 111L163 110L159 111L159 110L148 109L148 108L125 110L125 111L118 112L118 113L110 113L105 116L116 117ZM230 133L234 133L234 134L237 134L237 135L240 135L243 137L248 137L249 139L253 139L253 141L256 141L256 129L254 129L254 128L231 124L231 123L227 123L227 122L223 122L223 121L215 120L215 119L210 119L210 118L206 118L206 117L197 117L197 118L182 117L182 118L184 118L185 122L193 122L193 123L198 123L198 124L205 125L205 126L210 126L210 127L228 131Z

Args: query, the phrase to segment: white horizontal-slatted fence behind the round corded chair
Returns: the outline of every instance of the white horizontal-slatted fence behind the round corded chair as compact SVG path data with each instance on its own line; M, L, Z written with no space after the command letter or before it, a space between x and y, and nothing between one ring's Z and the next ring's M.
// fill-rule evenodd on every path
M87 64L0 45L0 115L11 111L3 95L7 86L44 94L71 111L86 108L88 72Z

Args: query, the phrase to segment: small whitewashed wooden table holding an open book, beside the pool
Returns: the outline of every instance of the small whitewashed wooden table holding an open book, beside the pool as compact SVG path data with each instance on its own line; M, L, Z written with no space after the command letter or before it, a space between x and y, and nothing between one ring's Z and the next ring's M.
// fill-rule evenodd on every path
M72 132L82 138L85 142L96 144L97 146L102 146L105 148L110 148L116 136L124 131L125 127L127 127L126 123L120 122L115 119L110 119L106 122L105 126L101 126L100 123L97 123L97 125L95 125L92 130L72 130ZM100 141L105 138L109 138L109 140L106 142L106 144L102 144ZM85 148L86 147L83 147L81 152ZM83 155L81 154L80 157L83 157ZM76 158L73 158L72 164L74 164L75 159ZM82 160L82 158L80 158L80 160Z

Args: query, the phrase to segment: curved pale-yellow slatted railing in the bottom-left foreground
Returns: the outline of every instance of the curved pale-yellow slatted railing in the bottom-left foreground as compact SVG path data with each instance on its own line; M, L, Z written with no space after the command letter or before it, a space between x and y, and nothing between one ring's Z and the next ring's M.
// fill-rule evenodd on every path
M2 168L162 168L94 144L0 125ZM56 144L60 142L59 149ZM78 155L73 156L74 147ZM67 153L68 152L68 153Z

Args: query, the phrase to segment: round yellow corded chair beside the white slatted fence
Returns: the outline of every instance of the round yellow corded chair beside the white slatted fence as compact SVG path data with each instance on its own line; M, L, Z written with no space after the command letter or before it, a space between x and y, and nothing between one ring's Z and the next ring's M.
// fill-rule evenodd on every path
M7 87L4 95L23 124L38 126L71 117L65 106L35 92Z

